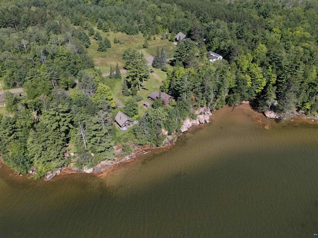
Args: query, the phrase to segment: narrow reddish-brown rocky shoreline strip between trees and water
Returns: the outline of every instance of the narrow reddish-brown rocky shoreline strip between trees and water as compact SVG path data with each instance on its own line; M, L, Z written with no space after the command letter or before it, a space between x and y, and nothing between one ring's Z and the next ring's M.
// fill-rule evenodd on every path
M264 113L260 113L259 111L255 110L252 108L252 106L250 105L249 102L243 102L242 104L239 104L237 106L232 106L233 109L235 109L238 106L242 106L242 105L248 105L248 107L255 113L255 117L252 118L253 122L259 126L262 126L264 129L269 129L269 126L264 123L263 119L270 119L268 117L266 117L266 115ZM229 107L229 106L226 106ZM222 109L220 109L222 110ZM217 110L219 111L219 110ZM213 114L209 115L209 118L211 118ZM263 119L259 119L256 116L262 116ZM290 119L290 121L294 121L294 119L302 119L302 120L311 120L311 121L316 121L318 122L318 118L317 117L304 117L303 115L299 115L299 116L295 116L293 118ZM185 119L184 121L187 121L188 119ZM276 119L270 119L271 121L276 120ZM203 124L211 124L213 120L209 120L208 122L202 123ZM189 131L193 131L196 130L200 127L202 127L201 123L199 124L192 124L190 127L188 127ZM188 130L186 130L188 131ZM185 131L184 131L185 132ZM109 175L113 170L116 170L120 167L120 165L122 164L126 164L126 163L130 163L132 161L134 161L136 158L141 157L143 155L146 154L150 154L153 150L158 150L158 149L170 149L172 146L175 145L176 140L178 139L178 137L182 134L184 134L184 132L181 133L173 133L172 135L168 135L167 138L164 140L163 144L159 147L155 147L155 146L150 146L150 145L143 145L143 146L135 146L134 151L125 157L115 157L115 159L113 161L102 161L100 163L98 163L96 166L92 167L89 170L83 170L83 171L79 171L76 167L72 167L72 166L67 166L64 167L62 169L60 169L59 171L61 173L57 174L58 176L53 176L53 178L58 178L58 179L62 179L66 176L72 175L72 174L91 174L94 176L102 176L105 177L107 175ZM14 175L14 177L18 177L18 178L30 178L30 174L17 174L13 169L11 169L10 167L6 166L4 161L1 159L0 157L0 169L1 167L7 167L8 170L10 170L12 172L12 175ZM41 179L43 180L51 180L51 179L45 179L45 177L42 177ZM54 179L56 180L56 179Z

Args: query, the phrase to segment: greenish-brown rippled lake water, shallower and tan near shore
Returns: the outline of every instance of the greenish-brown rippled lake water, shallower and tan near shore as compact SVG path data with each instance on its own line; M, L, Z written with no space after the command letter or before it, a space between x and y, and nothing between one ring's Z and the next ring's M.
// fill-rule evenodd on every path
M107 176L0 168L0 238L313 238L318 123L231 111Z

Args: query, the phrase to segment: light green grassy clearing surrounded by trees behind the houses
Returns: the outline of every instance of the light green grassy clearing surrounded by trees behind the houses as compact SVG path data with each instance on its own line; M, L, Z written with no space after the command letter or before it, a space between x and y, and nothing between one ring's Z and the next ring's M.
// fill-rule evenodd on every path
M97 29L94 28L96 31ZM107 49L106 52L98 52L98 41L95 41L93 37L90 37L90 46L87 49L88 55L94 60L95 66L98 66L102 74L109 73L110 71L110 65L112 66L112 69L115 71L116 69L116 63L118 62L119 68L123 68L125 66L124 61L122 60L123 52L126 49L133 48L140 50L145 57L146 56L155 56L157 54L157 47L159 47L159 52L161 53L161 49L164 48L166 52L166 57L171 58L173 56L173 49L174 45L172 42L169 42L168 40L161 40L160 36L155 36L156 39L152 37L151 40L148 41L149 48L145 49L143 48L143 44L145 42L145 38L142 34L139 35L127 35L125 33L121 32L102 32L98 30L102 37L107 37L111 43L111 48ZM114 38L119 39L119 41L123 41L124 44L120 43L114 43ZM151 67L151 66L150 66ZM148 99L148 95L153 93L154 91L159 91L159 87L162 84L162 80L166 79L166 72L163 72L161 69L153 68L151 67L155 74L149 73L150 79L145 81L145 83L142 85L141 90L138 91L138 95L143 97L143 100L138 102L139 104L139 115L142 116L146 109L144 108L144 103L149 102L152 103ZM126 76L126 74L121 74L122 78ZM122 86L123 86L123 80L117 81L113 88L113 95L114 99L122 104L125 105L126 101L129 98L132 98L132 96L125 97L122 94Z

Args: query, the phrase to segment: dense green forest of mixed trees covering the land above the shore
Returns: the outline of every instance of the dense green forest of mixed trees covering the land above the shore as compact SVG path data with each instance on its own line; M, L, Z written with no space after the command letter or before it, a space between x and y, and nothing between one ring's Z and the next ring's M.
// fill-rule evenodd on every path
M281 119L318 113L318 2L316 0L6 0L0 3L0 82L23 87L4 93L0 154L18 173L36 177L73 163L79 169L114 158L114 144L161 145L200 107L211 111L253 101ZM97 30L96 30L97 29ZM138 114L141 85L149 79L136 49L122 56L127 75L103 77L87 54L111 47L102 32L159 35L174 41L166 65L158 49L153 66L166 72L156 100ZM114 43L119 42L114 39ZM208 51L223 60L206 60ZM114 122L112 81L123 80L125 113L139 123L120 139ZM72 89L69 93L69 89ZM66 156L72 152L74 157Z

